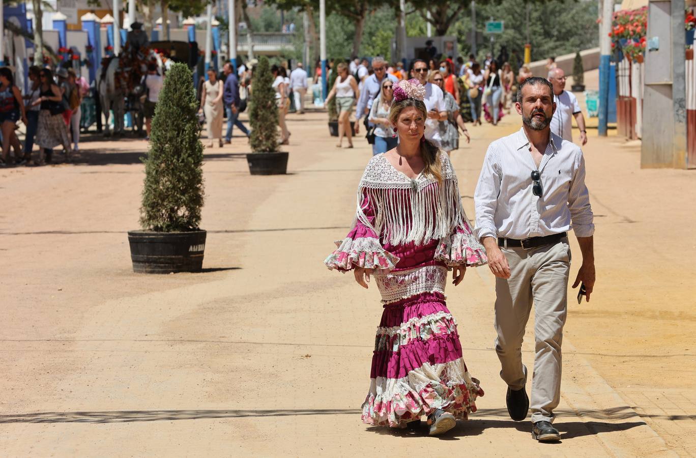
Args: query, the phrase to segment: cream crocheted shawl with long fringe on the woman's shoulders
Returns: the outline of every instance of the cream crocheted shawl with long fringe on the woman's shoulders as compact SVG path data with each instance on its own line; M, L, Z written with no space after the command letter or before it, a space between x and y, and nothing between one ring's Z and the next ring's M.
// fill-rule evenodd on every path
M356 219L393 245L427 244L451 235L457 226L464 226L466 215L461 207L457 175L445 152L440 153L440 160L442 183L438 184L422 174L415 179L407 177L383 154L372 157L358 187ZM361 208L365 196L376 212L372 224Z

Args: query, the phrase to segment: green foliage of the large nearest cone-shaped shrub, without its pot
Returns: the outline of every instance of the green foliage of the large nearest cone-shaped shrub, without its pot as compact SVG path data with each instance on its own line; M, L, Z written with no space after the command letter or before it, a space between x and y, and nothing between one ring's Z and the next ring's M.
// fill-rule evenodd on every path
M184 63L167 72L152 119L140 223L143 229L198 229L203 207L203 145L193 74Z

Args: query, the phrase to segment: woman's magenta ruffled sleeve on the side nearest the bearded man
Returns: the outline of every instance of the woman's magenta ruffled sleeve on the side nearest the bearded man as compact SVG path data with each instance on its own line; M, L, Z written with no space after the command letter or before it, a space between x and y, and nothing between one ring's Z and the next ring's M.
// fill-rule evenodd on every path
M451 205L454 205L456 211L454 212L454 221L452 221L452 233L439 240L435 250L435 260L442 261L449 267L482 266L488 262L486 251L476 238L471 223L464 212L464 207L461 206L457 175L454 174L449 160L446 161L446 166L452 171L454 186L451 187L450 191Z

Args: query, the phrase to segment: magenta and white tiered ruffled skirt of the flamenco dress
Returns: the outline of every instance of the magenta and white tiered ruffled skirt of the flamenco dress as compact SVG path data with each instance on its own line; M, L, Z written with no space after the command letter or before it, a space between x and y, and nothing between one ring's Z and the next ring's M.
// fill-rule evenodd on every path
M446 276L444 267L436 269ZM386 277L396 278L401 289L408 286L402 278L409 272L403 274ZM411 274L425 272L421 268ZM389 287L384 289L384 281L389 278L375 279L385 297ZM475 400L483 395L483 390L466 369L457 322L445 305L444 281L435 283L441 287L402 299L383 300L386 303L377 328L363 423L404 427L435 409L462 420L476 411Z

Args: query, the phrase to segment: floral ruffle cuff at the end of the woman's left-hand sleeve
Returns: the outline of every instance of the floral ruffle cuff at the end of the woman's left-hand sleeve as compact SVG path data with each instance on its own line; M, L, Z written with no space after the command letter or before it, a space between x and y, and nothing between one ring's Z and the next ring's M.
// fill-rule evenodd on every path
M382 248L379 240L372 237L346 237L336 242L336 246L338 249L324 260L329 269L348 271L362 267L374 269L375 275L383 275L394 269L399 262L399 258Z

